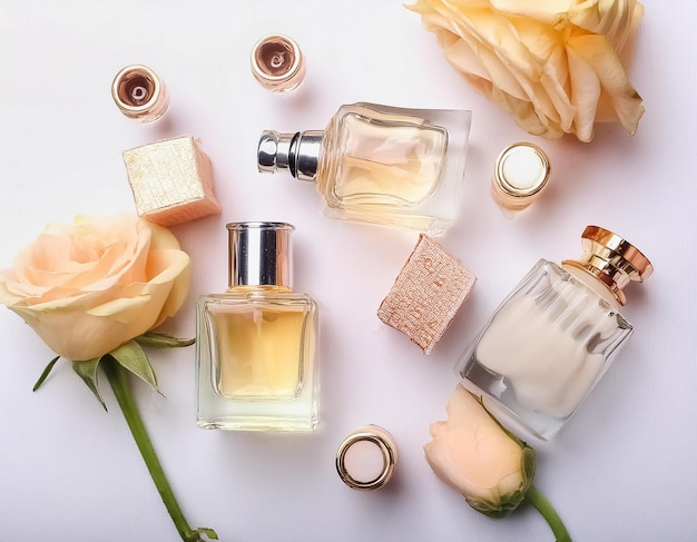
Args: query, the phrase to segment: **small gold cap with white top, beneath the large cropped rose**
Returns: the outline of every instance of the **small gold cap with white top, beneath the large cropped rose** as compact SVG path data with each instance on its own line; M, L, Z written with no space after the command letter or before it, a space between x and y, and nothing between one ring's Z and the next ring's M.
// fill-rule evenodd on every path
M547 154L531 142L517 142L497 158L492 178L494 200L508 209L523 209L544 188L551 175Z

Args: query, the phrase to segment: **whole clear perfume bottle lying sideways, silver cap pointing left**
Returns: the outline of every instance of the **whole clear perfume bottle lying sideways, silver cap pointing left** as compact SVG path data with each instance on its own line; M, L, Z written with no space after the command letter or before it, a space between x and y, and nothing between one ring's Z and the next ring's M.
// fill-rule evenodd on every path
M316 183L333 218L443 233L462 199L471 111L342 106L324 131L264 131L259 171Z

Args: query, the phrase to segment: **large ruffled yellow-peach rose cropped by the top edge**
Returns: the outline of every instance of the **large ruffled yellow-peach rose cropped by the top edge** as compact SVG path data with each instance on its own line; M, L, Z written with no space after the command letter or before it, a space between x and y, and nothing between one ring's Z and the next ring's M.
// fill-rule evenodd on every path
M644 107L627 78L636 0L418 0L409 7L445 58L528 132L576 134L619 121L634 135Z

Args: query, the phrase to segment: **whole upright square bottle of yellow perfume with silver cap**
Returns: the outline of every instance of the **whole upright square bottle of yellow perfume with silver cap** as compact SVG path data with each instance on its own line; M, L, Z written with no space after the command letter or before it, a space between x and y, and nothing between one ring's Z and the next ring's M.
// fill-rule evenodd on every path
M317 307L292 289L293 226L232 223L229 288L197 305L197 423L312 431L317 425Z

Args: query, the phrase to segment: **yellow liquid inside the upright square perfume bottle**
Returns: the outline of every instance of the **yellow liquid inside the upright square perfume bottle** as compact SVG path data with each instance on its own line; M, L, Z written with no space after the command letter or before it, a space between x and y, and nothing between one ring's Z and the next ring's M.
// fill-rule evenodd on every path
M305 312L259 306L210 308L220 395L288 400L300 394Z

